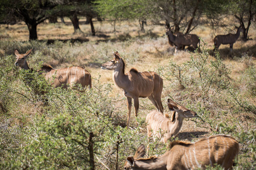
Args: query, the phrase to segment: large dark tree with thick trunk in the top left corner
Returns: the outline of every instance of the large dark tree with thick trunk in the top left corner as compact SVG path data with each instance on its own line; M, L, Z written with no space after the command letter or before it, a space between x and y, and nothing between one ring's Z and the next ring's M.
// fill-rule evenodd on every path
M38 34L36 31L36 27L38 24L44 22L49 16L53 15L52 10L57 3L61 3L60 1L51 1L51 0L2 0L0 5L2 6L2 10L8 10L9 13L5 17L9 17L15 15L20 20L23 20L28 27L28 31L30 32L30 40L38 39Z

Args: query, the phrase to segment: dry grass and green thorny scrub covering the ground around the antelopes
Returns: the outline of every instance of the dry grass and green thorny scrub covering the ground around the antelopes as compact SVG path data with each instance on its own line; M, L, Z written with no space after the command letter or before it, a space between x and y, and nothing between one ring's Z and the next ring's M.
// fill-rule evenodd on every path
M137 20L126 21L117 23L113 32L110 22L95 20L92 36L90 25L83 21L78 34L73 34L69 22L39 24L37 41L28 41L23 22L0 25L1 169L90 169L92 158L95 169L122 169L126 157L141 144L148 145L148 157L166 152L168 143L147 139L146 116L156 109L147 98L139 98L137 118L132 107L126 128L126 97L114 85L113 71L100 68L116 51L126 63L125 72L135 67L163 78L164 114L171 114L168 99L197 113L183 120L176 139L196 142L230 135L240 146L236 168L255 168L255 22L249 41L238 39L233 52L229 45L221 45L214 56L213 38L236 33L234 25L214 30L200 25L191 33L201 38L201 52L186 48L174 54L164 26L148 22L143 33ZM14 65L15 48L20 53L33 48L27 62L34 70L44 63L55 69L84 67L92 75L92 88L52 88L35 71Z

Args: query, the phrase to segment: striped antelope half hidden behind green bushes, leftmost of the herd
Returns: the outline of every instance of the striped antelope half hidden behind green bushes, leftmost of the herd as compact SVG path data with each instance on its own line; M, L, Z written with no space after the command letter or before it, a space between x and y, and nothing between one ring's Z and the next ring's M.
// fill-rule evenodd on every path
M32 70L27 65L27 57L30 55L32 49L28 50L25 54L20 54L18 49L14 50L16 55L15 66L19 66L20 69ZM67 84L70 86L80 83L82 87L89 86L92 87L92 79L90 73L82 67L67 67L63 69L53 69L49 65L43 65L43 67L38 70L40 74L44 75L46 80L51 80L53 87L67 88Z

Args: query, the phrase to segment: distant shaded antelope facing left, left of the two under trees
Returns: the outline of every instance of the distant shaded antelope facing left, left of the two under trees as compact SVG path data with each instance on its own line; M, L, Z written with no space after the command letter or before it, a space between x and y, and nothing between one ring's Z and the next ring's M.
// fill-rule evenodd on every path
M171 28L168 28L166 31L166 35L168 36L168 42L169 44L174 44L176 46L175 48L175 54L177 50L180 50L181 46L183 45L192 45L195 49L197 49L197 44L200 46L200 39L195 34L183 34L183 33L177 33L175 36L174 33L171 31ZM172 46L172 45L171 45Z

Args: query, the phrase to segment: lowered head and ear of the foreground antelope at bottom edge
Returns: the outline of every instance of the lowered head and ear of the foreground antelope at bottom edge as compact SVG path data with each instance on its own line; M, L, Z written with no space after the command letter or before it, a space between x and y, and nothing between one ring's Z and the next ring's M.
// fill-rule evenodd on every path
M136 159L142 158L145 154L146 154L145 146L144 145L139 146L134 156L128 156L126 158L125 170L138 169L138 167L136 168L136 165L135 165Z

